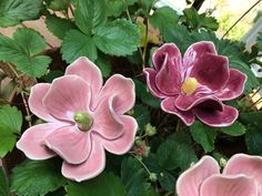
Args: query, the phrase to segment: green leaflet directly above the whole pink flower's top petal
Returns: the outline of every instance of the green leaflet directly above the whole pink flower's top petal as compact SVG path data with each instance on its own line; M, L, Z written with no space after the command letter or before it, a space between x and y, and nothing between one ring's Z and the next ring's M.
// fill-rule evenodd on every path
M98 59L97 47L91 39L78 30L70 30L62 42L61 53L68 63L80 56L88 56L91 61Z

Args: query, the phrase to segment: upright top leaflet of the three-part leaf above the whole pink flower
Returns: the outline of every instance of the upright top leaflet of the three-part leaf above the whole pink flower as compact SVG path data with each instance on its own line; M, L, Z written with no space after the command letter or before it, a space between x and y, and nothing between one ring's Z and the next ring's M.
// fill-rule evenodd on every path
M107 21L105 8L104 0L79 0L74 10L75 24L87 35L94 34Z

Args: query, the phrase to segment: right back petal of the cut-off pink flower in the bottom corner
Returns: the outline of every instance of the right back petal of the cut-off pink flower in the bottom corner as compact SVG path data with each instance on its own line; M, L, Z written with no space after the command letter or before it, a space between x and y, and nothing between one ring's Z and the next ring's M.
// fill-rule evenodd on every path
M235 175L243 174L248 177L252 177L260 187L260 194L262 194L262 157L251 156L245 154L236 154L232 156L224 167L223 174Z

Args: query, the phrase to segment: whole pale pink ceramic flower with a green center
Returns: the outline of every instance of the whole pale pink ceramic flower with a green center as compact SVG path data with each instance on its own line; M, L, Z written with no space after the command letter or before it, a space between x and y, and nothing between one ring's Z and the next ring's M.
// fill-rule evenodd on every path
M69 65L52 84L32 87L29 107L44 124L28 128L17 147L31 159L59 155L63 176L78 182L99 175L105 165L104 148L127 153L137 122L123 115L134 105L132 80L115 74L102 86L100 70L87 58Z

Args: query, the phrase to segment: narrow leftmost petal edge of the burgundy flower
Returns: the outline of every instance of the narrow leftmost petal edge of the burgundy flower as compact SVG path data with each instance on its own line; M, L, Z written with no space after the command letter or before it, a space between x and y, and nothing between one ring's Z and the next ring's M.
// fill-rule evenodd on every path
M150 92L157 97L161 97L161 99L165 97L167 95L161 93L155 84L157 71L154 71L153 69L150 69L150 68L145 68L143 70L143 73L145 74L147 84L148 84Z

